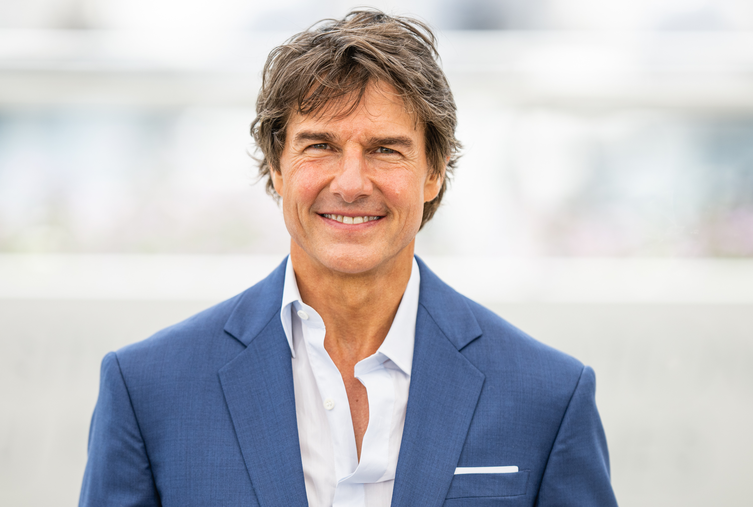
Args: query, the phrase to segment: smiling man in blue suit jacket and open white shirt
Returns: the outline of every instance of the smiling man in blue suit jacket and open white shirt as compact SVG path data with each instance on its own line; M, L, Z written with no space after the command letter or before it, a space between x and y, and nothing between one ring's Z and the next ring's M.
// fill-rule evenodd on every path
M459 147L436 57L372 11L273 51L252 133L291 254L105 357L81 505L616 505L593 371L413 256Z

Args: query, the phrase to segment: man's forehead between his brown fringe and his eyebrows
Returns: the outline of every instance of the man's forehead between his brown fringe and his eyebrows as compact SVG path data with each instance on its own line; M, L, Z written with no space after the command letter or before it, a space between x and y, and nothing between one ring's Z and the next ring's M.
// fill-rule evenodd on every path
M422 124L407 111L403 99L389 85L371 85L360 102L357 94L331 100L316 113L291 114L288 137L316 127L343 136L399 134L422 138Z

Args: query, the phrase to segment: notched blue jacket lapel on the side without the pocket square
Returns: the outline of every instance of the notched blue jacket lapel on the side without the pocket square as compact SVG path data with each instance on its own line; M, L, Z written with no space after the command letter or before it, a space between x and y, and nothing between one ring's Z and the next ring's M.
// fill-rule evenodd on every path
M291 354L279 309L285 261L242 294L225 331L246 345L219 371L259 504L308 505L300 460Z

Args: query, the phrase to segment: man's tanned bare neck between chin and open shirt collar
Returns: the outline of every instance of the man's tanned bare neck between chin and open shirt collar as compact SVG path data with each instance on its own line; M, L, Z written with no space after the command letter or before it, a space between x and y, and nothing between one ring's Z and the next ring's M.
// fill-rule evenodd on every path
M358 362L382 345L410 279L414 241L377 268L356 274L322 266L291 241L300 297L324 320L325 348L333 360Z

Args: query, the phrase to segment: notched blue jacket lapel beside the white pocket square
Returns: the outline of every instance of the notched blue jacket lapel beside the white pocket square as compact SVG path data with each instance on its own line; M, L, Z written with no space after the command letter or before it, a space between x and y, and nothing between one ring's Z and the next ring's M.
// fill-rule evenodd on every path
M421 272L416 344L393 507L444 503L484 381L459 352L481 335L471 309L416 260Z

